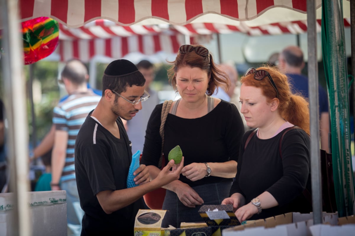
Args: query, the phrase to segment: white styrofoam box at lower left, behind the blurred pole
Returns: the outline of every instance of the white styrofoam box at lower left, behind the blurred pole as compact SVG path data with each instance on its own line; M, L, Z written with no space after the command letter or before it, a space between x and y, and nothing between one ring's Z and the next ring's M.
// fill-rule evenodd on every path
M28 206L32 235L67 235L66 191L28 192ZM14 208L13 193L0 194L1 236L12 236L20 227L14 222Z

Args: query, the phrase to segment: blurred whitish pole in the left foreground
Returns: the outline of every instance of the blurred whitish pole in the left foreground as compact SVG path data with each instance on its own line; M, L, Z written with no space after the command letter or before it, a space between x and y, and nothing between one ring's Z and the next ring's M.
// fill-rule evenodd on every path
M23 76L23 54L18 24L18 1L0 0L4 25L1 57L4 77L4 104L8 120L7 144L9 145L10 188L14 193L13 235L32 235L29 223L27 192L28 177L28 125L26 90Z

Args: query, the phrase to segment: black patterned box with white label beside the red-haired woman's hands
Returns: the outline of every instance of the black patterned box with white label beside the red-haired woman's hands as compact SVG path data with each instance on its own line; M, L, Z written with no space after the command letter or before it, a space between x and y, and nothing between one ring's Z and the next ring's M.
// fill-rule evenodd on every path
M203 205L198 213L208 226L240 225L233 212L233 205Z

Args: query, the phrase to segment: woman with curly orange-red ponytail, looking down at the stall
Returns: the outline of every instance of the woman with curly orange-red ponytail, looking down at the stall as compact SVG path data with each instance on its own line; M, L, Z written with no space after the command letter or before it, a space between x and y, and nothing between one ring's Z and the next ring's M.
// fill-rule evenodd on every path
M241 82L241 113L253 129L242 138L236 179L222 204L233 204L240 221L309 213L302 193L311 181L308 102L273 67L250 68Z

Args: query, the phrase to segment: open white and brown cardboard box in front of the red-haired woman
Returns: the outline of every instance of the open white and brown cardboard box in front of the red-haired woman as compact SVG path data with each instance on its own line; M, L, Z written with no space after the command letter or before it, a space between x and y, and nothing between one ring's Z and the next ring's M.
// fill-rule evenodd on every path
M336 225L337 213L323 212L323 222ZM266 219L247 221L245 225L235 226L222 231L223 236L247 235L292 235L311 236L310 226L313 225L313 213L301 214L298 212L286 213Z

